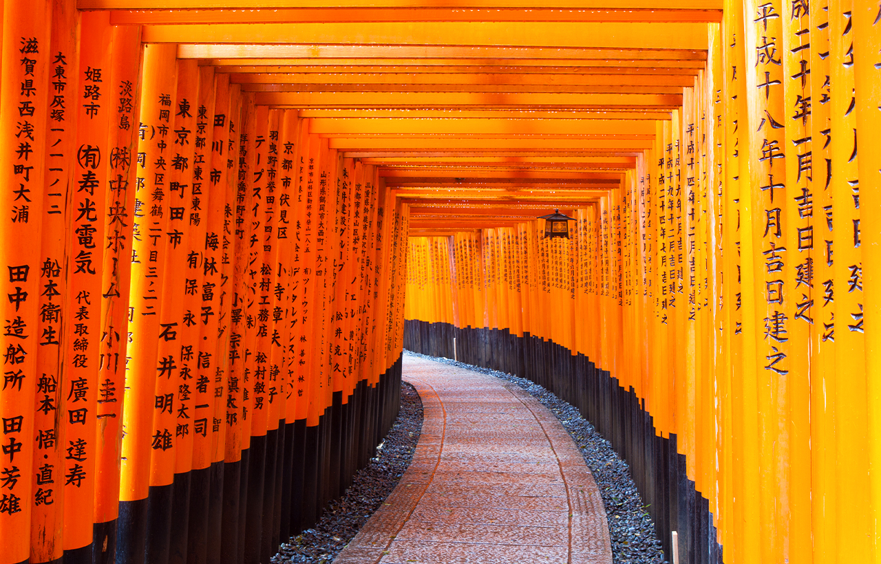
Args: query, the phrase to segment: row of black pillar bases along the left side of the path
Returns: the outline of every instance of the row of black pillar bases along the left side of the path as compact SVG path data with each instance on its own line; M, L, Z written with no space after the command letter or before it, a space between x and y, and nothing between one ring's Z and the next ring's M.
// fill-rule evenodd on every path
M401 359L377 385L359 381L308 426L279 421L251 436L236 462L174 475L148 496L120 502L115 521L93 526L88 546L64 564L264 564L282 542L312 527L373 457L399 411Z

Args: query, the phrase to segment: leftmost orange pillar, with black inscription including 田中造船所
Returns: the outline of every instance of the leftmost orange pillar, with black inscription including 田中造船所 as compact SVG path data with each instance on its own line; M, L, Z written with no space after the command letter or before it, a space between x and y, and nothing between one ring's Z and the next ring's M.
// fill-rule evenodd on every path
M0 233L4 242L18 241L19 244L7 243L0 253L0 280L3 281L4 295L4 390L0 397L4 431L0 467L4 473L0 482L3 484L3 493L0 494L0 553L8 554L4 559L19 562L27 560L31 554L31 516L35 513L33 499L34 494L40 491L39 488L34 489L31 478L34 474L33 436L42 430L35 427L41 413L40 407L33 407L37 398L37 359L41 355L41 334L37 329L41 305L39 296L43 289L40 276L42 194L47 177L46 146L50 139L54 142L55 137L48 135L49 70L53 63L49 51L49 31L53 14L52 4L46 1L27 5L4 3L3 9L0 83L4 84L5 92L0 97L0 124L3 126L3 134L0 135L0 174L4 179L4 190L0 201L4 212L0 219ZM70 56L70 61L77 60L75 53L69 52L67 56ZM64 82L67 77L76 80L75 76L65 74ZM59 199L55 200L57 203L50 205L63 205ZM56 346L51 345L50 348ZM52 353L63 357L59 349ZM57 382L56 375L50 376L55 377ZM50 388L47 411L57 411L61 395L62 390L57 384ZM63 464L58 460L62 451L55 438L61 428L63 424L59 423L45 429L48 443L44 442L43 446L52 449L51 462L58 464L50 465L53 473L48 480L52 480L52 483L49 485L47 481L45 484L47 487L41 492L41 505L45 505L47 496L49 505L54 503L53 496L63 499ZM36 516L40 516L40 513L36 512ZM56 515L49 516L48 520L41 519L51 527L48 533L53 545L60 541L56 531L62 526L59 519L63 514L58 512ZM40 553L58 555L55 546L41 546L38 550Z

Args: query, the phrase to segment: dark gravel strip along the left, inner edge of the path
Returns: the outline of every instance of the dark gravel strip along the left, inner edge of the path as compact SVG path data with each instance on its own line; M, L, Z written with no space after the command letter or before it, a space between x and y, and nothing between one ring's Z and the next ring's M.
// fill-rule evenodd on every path
M376 448L376 457L355 473L352 487L329 502L315 527L279 547L273 564L326 564L355 537L367 519L401 480L422 432L422 399L416 389L401 383L401 411L389 435Z

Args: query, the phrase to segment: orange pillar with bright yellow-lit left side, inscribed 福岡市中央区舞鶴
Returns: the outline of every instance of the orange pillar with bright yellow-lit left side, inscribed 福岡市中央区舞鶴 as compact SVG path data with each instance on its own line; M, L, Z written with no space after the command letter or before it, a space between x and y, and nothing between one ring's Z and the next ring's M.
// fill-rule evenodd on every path
M147 496L151 483L153 412L157 374L156 339L167 248L167 201L158 188L165 187L164 165L168 141L163 131L172 124L172 104L177 89L175 45L144 48L144 71L138 128L137 177L129 300L129 353L122 410L122 465L120 517L117 524L116 560L139 562L144 557L147 531ZM164 143L164 144L163 144ZM164 194L164 193L163 193ZM137 233L137 236L135 235ZM159 437L159 446L162 437Z

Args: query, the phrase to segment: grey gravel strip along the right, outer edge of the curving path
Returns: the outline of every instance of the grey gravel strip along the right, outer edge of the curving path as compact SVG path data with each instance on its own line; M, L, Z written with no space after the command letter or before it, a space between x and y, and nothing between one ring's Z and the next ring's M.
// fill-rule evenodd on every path
M557 416L559 422L581 450L581 456L594 475L596 486L603 496L609 522L611 557L614 564L666 564L661 541L655 534L655 524L642 503L642 497L630 476L630 466L620 457L611 443L605 440L578 409L559 399L543 386L526 378L516 377L498 370L489 370L473 364L458 363L448 358L421 355L409 350L404 355L418 356L438 363L450 364L467 370L475 370L487 376L507 380L520 386L538 399L544 407Z

